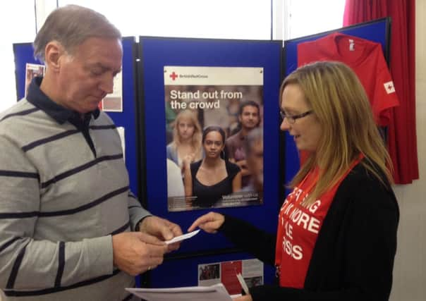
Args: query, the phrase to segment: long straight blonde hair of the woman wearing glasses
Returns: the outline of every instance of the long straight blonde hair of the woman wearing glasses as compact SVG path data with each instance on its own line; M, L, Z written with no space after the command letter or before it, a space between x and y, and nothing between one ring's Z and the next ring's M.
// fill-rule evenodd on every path
M370 102L353 70L339 62L316 62L298 68L280 87L296 84L305 95L322 128L315 154L311 154L288 184L296 187L316 165L322 168L319 180L304 204L334 186L360 154L367 171L385 187L392 183L391 159L375 124Z

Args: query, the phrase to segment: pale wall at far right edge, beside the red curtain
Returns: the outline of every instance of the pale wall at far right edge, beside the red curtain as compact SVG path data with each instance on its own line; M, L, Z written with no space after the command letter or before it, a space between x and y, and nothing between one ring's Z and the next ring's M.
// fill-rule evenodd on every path
M416 0L415 89L420 180L395 187L401 210L391 301L426 300L426 1Z

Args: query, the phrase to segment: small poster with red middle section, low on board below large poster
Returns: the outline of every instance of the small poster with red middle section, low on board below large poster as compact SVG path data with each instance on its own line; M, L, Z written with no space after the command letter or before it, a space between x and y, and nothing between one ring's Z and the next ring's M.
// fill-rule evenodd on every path
M241 274L248 288L263 285L263 263L259 259L215 262L198 265L198 285L209 286L223 283L230 295L241 293L237 274Z

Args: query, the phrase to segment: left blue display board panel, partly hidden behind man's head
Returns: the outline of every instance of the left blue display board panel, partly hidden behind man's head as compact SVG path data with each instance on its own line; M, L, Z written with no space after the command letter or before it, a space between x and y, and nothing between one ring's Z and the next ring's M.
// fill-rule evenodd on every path
M116 126L125 129L126 167L130 178L130 189L138 194L138 133L135 109L135 38L123 38L123 112L108 112ZM34 58L31 43L13 44L15 56L17 100L25 94L26 63L40 63Z

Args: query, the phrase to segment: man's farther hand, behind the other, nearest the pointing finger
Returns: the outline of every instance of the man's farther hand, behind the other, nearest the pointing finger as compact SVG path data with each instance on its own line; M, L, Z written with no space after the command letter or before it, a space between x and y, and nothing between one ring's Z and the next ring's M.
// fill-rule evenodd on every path
M176 223L172 223L158 216L145 217L140 223L139 230L140 232L154 235L159 238L159 240L171 240L176 236L182 235L181 227ZM178 250L180 245L179 242L169 245L168 252Z

